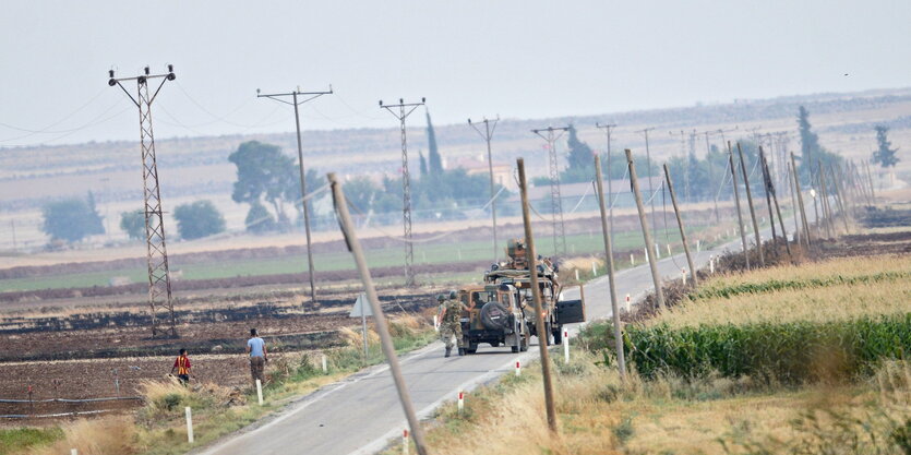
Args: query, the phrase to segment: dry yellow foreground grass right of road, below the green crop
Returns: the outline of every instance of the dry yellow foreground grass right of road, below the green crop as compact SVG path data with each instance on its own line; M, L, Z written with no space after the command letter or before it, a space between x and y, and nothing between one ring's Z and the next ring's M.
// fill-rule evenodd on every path
M530 366L519 380L504 376L500 384L469 393L462 417L454 404L444 405L429 431L430 451L442 455L804 453L792 450L823 435L860 443L863 434L888 439L891 423L911 417L908 363L890 363L868 383L781 390L748 379L645 382L634 376L624 386L613 370L596 368L592 361L580 355L570 366L555 364L559 431L554 436L543 411L540 370ZM884 409L888 419L864 419L882 416ZM796 423L807 419L818 428ZM849 421L855 423L844 427ZM890 452L896 447L883 441L865 443L882 444L882 453L899 453ZM743 444L753 444L753 451ZM756 452L756 447L769 451Z

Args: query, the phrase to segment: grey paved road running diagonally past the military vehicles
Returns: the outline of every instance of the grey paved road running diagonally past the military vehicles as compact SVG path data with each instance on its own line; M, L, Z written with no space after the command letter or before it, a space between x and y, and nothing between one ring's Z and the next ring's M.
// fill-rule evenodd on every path
M768 234L764 232L768 238ZM740 241L703 251L694 258L704 266L711 254L740 250ZM666 277L680 276L686 260L682 255L664 258L659 271ZM648 266L642 265L616 274L618 298L626 294L633 301L652 288ZM564 291L564 298L578 298L578 289ZM586 285L588 319L611 315L607 277ZM571 327L571 333L575 332ZM443 358L437 342L401 358L401 366L415 408L422 419L432 416L443 402L456 398L457 391L471 390L493 378L512 373L515 361L538 358L537 348L511 354L508 348L483 347L477 355ZM377 366L345 381L328 385L289 406L278 417L259 427L241 431L204 451L205 455L247 454L372 454L407 428L388 369Z

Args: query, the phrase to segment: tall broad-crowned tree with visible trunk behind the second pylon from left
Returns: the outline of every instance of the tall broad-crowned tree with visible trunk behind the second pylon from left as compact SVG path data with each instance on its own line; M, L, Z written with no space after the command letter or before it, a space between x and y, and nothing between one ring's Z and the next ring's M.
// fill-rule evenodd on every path
M278 223L288 226L284 204L300 197L300 176L295 159L284 155L277 145L249 141L240 144L228 160L237 166L231 199L251 204L251 209L254 203L268 202Z

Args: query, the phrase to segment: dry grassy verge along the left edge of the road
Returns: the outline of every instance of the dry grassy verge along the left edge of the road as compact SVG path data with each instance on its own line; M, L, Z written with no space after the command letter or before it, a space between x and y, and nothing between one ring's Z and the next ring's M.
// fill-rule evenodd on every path
M428 345L436 333L422 319L401 316L389 321L398 352ZM81 419L60 428L16 429L0 432L2 455L51 455L80 453L93 455L171 455L212 443L319 387L336 382L364 366L384 361L379 337L369 332L369 356L364 362L359 332L343 328L347 347L327 350L327 372L322 371L320 355L274 354L267 364L264 405L255 392L195 384L147 382L143 385L144 406L134 415ZM193 409L194 444L187 442L184 407ZM1 452L7 451L7 452Z

